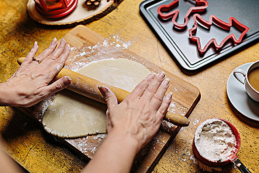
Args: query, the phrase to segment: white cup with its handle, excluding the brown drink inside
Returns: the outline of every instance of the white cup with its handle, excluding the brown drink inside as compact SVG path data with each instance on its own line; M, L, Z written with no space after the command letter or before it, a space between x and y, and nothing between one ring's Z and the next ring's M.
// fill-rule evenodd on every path
M248 93L248 95L255 101L259 102L259 91L256 90L254 87L251 86L251 84L248 81L248 74L251 72L251 70L253 70L254 68L259 67L259 60L256 62L253 62L247 69L247 71L245 72L242 69L235 69L234 70L234 77L241 82L242 84L245 85L246 88L246 92ZM237 73L241 73L243 76L238 76Z

